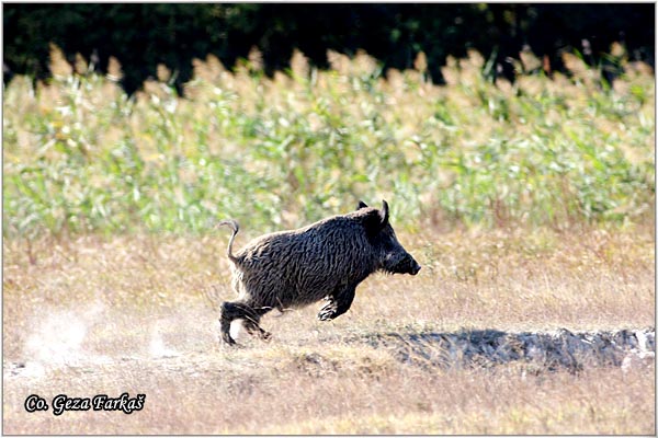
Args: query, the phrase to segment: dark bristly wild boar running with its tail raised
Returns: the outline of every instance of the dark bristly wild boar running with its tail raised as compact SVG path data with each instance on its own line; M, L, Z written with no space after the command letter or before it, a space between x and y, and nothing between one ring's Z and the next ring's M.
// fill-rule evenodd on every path
M238 293L236 301L222 304L220 331L227 344L235 344L229 333L234 320L243 320L250 334L266 339L270 333L259 322L272 309L283 312L325 299L328 302L318 319L330 321L350 309L356 286L372 273L416 275L420 270L395 235L386 200L382 209L360 201L358 209L348 215L264 234L235 255L238 223L229 219L217 226L232 229L227 254Z

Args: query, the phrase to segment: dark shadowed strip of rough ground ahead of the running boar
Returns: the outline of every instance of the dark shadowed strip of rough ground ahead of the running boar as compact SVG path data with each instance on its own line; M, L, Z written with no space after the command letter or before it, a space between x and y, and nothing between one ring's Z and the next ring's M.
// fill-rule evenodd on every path
M587 366L621 366L653 361L656 330L610 332L506 333L497 330L456 333L385 333L366 336L375 348L386 348L407 364L427 367L491 367L521 361L547 370L578 371Z

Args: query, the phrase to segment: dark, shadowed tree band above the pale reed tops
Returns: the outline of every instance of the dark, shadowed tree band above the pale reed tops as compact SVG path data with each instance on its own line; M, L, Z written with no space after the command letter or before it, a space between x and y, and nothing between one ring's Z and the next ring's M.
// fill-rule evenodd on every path
M69 61L79 53L106 71L110 56L124 67L122 85L134 92L158 64L175 74L179 91L192 78L192 59L215 55L227 66L256 46L266 73L285 69L294 49L320 68L327 49L349 56L363 49L384 68L413 66L419 51L442 83L447 56L476 49L491 74L513 77L508 58L529 46L554 70L561 51L578 50L590 65L606 62L614 42L632 60L655 62L653 3L113 3L3 4L4 65L10 73L48 76L48 44Z

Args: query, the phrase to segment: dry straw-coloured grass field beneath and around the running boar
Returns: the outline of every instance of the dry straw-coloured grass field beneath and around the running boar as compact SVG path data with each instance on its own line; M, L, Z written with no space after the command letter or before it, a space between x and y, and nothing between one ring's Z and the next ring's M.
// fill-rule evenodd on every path
M215 307L234 297L225 234L5 239L3 433L656 433L653 360L423 367L364 342L653 327L653 227L399 232L418 276L368 278L333 322L317 321L317 307L269 314L273 338L242 334L236 348L217 341ZM23 406L30 394L50 404L124 392L146 394L144 408Z

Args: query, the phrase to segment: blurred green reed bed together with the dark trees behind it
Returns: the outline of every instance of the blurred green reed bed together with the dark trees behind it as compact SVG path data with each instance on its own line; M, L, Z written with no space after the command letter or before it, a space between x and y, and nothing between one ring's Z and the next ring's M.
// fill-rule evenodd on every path
M654 220L654 4L3 8L4 235Z

